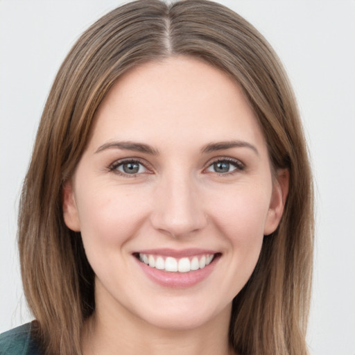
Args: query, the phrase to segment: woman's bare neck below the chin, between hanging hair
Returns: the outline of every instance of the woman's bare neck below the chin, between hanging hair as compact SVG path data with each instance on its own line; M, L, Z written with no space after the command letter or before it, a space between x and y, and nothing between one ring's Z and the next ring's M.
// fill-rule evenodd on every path
M230 355L231 306L193 329L162 329L126 309L97 307L84 325L84 355Z

